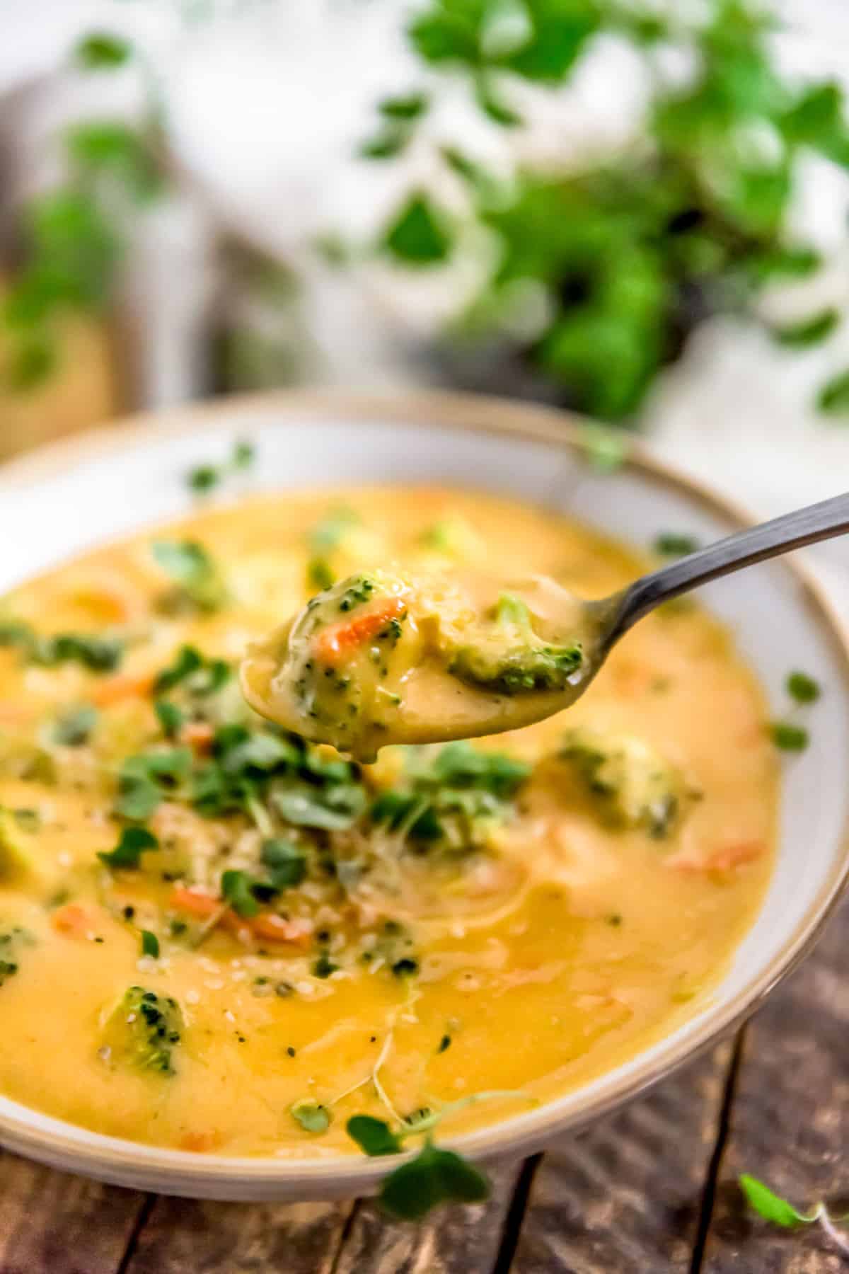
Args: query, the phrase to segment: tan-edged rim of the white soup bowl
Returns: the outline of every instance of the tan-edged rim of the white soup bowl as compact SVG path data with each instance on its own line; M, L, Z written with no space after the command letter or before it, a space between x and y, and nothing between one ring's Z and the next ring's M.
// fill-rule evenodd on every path
M281 426L304 419L335 424L420 424L439 428L495 433L532 440L566 450L582 447L580 429L588 422L551 406L438 390L397 394L356 394L337 390L294 390L246 394L140 413L81 434L48 443L0 465L0 498L37 484L39 479L109 451L125 451L145 441L202 432L210 423L227 420L234 427L239 415L257 423L274 417ZM628 468L685 494L705 511L738 527L756 519L738 505L717 494L673 466L652 456L633 437L626 440ZM820 585L799 562L782 564L801 586L801 603L827 634L841 669L843 693L849 698L849 634ZM532 1111L508 1116L486 1127L447 1138L444 1145L479 1161L503 1156L521 1157L541 1149L554 1136L587 1124L631 1099L666 1078L699 1052L717 1043L752 1014L775 986L810 952L849 884L849 827L844 828L827 878L804 917L788 935L780 952L760 973L727 1003L706 1010L703 1020L684 1041L656 1056L638 1054L615 1083L592 1094L580 1107L559 1111L574 1102L577 1092L546 1101ZM579 1091L578 1091L579 1092ZM210 1198L309 1198L372 1192L386 1175L386 1162L356 1154L309 1158L228 1157L190 1150L171 1150L145 1143L106 1136L64 1120L53 1119L0 1097L0 1144L45 1163L87 1173L104 1181L153 1189L160 1192ZM395 1161L398 1162L398 1161Z

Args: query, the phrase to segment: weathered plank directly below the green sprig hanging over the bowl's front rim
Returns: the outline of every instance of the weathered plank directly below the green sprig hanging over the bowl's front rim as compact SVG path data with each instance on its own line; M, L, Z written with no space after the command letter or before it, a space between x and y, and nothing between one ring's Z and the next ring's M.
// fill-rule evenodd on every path
M442 1209L417 1226L388 1220L374 1203L361 1203L333 1274L490 1274L519 1167L490 1172L488 1203Z

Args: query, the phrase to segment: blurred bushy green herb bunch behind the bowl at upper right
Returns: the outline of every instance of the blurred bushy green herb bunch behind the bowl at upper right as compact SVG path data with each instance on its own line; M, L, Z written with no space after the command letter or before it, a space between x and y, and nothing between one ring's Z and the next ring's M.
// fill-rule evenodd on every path
M610 420L633 417L661 368L705 317L756 313L774 279L818 265L817 252L788 238L785 220L807 152L849 167L849 127L840 88L801 87L778 69L773 23L751 0L709 0L691 15L619 0L430 0L409 39L433 80L466 78L486 116L522 122L517 80L558 87L593 37L628 38L652 73L644 145L580 172L519 171L504 181L458 145L437 155L465 189L458 217L425 189L412 191L379 237L405 268L446 262L470 227L494 240L494 265L461 317L454 339L507 344L570 405ZM656 73L673 48L695 73L681 87ZM433 94L432 94L433 96ZM429 99L412 89L381 104L381 132L364 154L402 152ZM533 293L540 321L516 333L517 298ZM835 308L773 331L788 348L825 340ZM611 376L611 368L615 375ZM818 397L825 412L849 408L849 373Z

